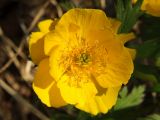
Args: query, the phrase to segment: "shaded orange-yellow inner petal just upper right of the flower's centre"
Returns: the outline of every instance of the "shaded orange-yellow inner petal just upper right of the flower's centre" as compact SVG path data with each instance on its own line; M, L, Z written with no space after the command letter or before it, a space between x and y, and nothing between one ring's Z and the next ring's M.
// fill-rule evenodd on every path
M95 55L98 56L99 58L106 57L103 58L106 59L105 61L107 61L108 57L112 61L117 61L117 58L123 51L123 45L121 41L116 40L114 33L112 33L112 31L108 29L90 30L90 32L88 32L87 39L89 45L93 45L95 51L98 51L97 54Z

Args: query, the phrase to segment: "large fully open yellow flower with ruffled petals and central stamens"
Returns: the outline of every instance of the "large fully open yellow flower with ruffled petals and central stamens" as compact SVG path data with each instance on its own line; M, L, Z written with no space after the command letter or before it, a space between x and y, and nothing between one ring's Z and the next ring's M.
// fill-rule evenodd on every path
M135 51L124 44L134 34L117 34L120 22L96 9L72 9L52 23L40 23L43 39L33 33L29 40L34 91L47 106L106 113L133 72Z

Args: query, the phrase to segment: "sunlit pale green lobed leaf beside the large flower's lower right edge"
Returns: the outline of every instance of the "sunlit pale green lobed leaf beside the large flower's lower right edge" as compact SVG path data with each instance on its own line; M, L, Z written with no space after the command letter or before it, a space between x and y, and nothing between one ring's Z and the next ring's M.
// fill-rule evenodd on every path
M127 87L124 87L119 93L120 98L118 98L114 110L120 110L139 105L143 101L144 90L144 86L139 86L133 88L131 93L128 94Z

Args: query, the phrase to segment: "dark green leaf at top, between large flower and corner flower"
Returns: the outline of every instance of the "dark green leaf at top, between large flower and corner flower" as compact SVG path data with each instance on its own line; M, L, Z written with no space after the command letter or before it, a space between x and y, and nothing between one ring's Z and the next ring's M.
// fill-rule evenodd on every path
M130 32L138 18L142 15L140 11L142 2L143 0L138 0L136 4L132 6L131 0L117 0L117 19L122 22L119 33Z

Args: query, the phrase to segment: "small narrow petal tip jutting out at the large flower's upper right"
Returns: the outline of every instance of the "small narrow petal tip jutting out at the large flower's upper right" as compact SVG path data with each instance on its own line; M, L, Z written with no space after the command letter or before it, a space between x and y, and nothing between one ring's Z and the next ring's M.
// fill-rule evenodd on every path
M122 41L123 44L125 44L126 42L132 40L135 38L134 33L127 33L127 34L118 34L117 38Z

